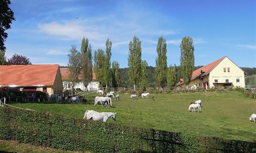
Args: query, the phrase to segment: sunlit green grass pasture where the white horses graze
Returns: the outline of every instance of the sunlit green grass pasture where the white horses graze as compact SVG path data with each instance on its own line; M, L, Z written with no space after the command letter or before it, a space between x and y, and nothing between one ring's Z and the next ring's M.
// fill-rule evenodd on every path
M148 99L138 100L131 100L130 94L119 94L120 100L113 100L112 108L94 106L96 95L86 95L89 102L87 105L12 105L76 118L82 118L86 110L116 112L116 124L256 142L256 124L249 121L250 115L256 113L256 100L247 98L238 91L150 94ZM151 99L152 96L155 100ZM188 112L190 102L198 99L202 100L202 112ZM108 122L114 120L110 119Z

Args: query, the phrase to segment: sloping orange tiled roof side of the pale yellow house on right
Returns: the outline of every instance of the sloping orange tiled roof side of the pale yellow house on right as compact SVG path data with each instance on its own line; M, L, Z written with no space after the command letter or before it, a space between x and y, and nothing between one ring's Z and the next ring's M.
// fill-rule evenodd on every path
M226 58L226 56L193 71L190 81L193 81L198 79L199 77L205 77L206 75L208 75L209 72L213 70L224 58Z

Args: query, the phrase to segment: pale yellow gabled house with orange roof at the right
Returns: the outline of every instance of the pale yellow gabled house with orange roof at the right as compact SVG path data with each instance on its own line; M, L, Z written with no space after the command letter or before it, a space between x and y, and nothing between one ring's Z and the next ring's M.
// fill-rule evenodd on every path
M245 75L245 71L225 56L195 70L188 86L190 88L201 86L204 89L227 86L244 88ZM181 81L176 86L185 87L185 84Z

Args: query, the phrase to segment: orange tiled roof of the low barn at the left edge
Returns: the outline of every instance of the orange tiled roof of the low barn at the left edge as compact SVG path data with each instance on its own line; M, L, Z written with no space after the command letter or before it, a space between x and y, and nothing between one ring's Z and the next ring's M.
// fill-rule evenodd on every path
M55 81L59 65L1 65L1 86L51 86Z

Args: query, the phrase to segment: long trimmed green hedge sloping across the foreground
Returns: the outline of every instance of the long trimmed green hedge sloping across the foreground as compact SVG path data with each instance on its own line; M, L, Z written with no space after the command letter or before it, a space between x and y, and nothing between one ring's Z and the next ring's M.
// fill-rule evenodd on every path
M256 152L256 143L0 108L0 139L92 152Z

